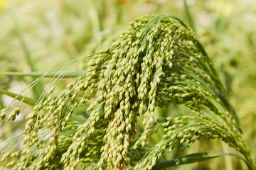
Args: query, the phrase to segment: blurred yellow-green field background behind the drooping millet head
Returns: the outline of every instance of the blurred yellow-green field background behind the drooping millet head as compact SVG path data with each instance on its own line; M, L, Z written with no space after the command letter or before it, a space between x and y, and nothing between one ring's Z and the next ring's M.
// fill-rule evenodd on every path
M186 9L187 5L187 9ZM190 15L188 15L188 11ZM255 0L0 0L0 71L46 72L75 58L109 46L134 18L146 13L165 13L193 23L198 39L213 60L230 103L244 127L245 142L256 162L256 1ZM192 22L193 21L193 22ZM86 69L86 61L74 70ZM0 88L21 92L35 78L0 74ZM50 79L31 91L38 98ZM63 79L61 91L71 79ZM1 95L0 107L11 98ZM31 108L25 106L16 123L0 127L0 142L22 132ZM159 108L157 116L186 112L183 106ZM161 130L160 130L161 131ZM154 135L154 145L160 135ZM230 152L219 141L201 140L186 152ZM234 152L234 151L232 151ZM175 152L167 157L181 156ZM238 160L225 157L175 169L244 169Z

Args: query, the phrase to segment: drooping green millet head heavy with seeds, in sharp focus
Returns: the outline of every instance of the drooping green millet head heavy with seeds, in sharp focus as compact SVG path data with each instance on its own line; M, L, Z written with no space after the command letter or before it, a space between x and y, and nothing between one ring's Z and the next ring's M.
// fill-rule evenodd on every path
M212 62L193 30L178 18L137 18L119 40L87 57L92 57L87 72L59 95L53 94L56 76L36 103L16 97L34 105L33 111L26 116L23 147L11 145L14 138L1 147L0 169L161 169L225 155L255 169ZM11 112L3 109L0 120L15 120L21 103ZM156 120L156 107L170 103L183 104L189 112ZM81 105L87 114L75 116ZM141 128L138 118L143 119ZM161 140L147 147L161 127ZM197 153L162 162L174 147L186 149L201 137L222 140L240 154Z

